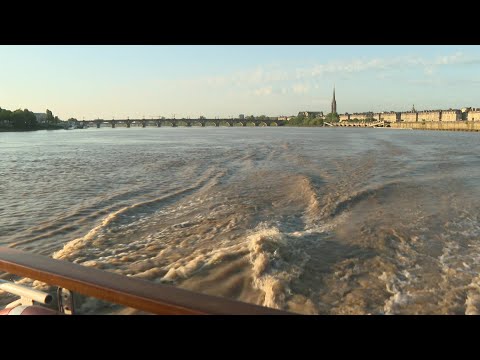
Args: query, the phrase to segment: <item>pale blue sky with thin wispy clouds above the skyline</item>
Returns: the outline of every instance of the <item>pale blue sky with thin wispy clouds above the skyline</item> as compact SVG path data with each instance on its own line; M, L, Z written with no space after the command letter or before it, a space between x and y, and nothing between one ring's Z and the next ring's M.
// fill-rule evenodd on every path
M480 46L0 45L0 107L60 119L480 107Z

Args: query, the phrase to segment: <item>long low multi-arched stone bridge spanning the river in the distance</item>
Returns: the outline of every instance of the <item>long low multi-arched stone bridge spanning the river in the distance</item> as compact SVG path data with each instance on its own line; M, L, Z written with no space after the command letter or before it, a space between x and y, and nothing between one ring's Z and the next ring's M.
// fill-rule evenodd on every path
M97 128L101 127L102 124L108 124L114 128L118 124L126 126L127 128L132 126L137 127L147 127L147 126L156 126L156 127L178 127L178 126L247 126L247 124L253 124L255 126L283 126L285 125L286 120L274 120L274 119L119 119L119 120L83 120L78 121L79 124L82 124L83 127L86 126L96 126Z

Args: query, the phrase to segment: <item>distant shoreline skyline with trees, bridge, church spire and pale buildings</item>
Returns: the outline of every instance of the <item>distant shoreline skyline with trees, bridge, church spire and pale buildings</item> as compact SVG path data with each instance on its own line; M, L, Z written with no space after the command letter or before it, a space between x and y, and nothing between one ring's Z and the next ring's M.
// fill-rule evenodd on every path
M197 119L191 118L178 118L175 116L167 118L164 116L152 119L89 119L78 120L76 118L69 118L68 120L61 120L58 116L53 116L50 110L45 113L32 113L25 110L9 111L0 108L0 129L36 129L36 128L84 128L92 125L100 127L103 123L107 122L109 126L115 127L116 125L125 125L130 127L131 125L146 127L152 121L154 125L160 127L169 124L171 126L178 126L183 124L186 126L200 125L206 126L207 123L213 123L215 126L221 126L226 124L228 126L247 126L249 123L253 123L255 126L283 126L283 125L310 125L310 126L324 126L331 125L332 123L342 122L382 122L384 124L392 123L426 123L426 122L460 122L460 121L479 121L480 120L480 108L464 107L461 109L436 109L436 110L416 110L415 105L408 111L382 111L372 112L366 111L361 113L337 113L337 101L335 96L335 88L333 89L333 96L331 101L331 107L329 113L323 111L299 111L297 115L289 116L266 116L266 115L245 115L239 114L238 117L222 118L215 117L214 119L207 119L205 116L199 116ZM138 125L137 125L138 126Z

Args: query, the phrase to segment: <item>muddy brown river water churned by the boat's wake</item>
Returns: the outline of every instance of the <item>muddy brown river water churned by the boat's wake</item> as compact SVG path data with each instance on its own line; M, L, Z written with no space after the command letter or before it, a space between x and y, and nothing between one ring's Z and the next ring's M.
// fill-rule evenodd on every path
M479 210L477 133L0 133L0 246L302 314L480 313Z

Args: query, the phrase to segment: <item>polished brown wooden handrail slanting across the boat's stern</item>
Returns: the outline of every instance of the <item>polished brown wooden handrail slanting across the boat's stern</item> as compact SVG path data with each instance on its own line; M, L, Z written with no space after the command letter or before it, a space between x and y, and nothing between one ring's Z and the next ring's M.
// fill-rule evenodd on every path
M0 270L153 314L292 314L5 247L0 247Z

